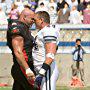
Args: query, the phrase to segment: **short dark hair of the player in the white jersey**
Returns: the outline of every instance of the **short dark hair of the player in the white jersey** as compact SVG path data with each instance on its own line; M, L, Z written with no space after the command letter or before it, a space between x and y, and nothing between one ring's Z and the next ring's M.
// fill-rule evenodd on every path
M38 18L43 18L44 22L49 23L50 24L50 16L48 14L48 12L46 11L38 11L36 14L38 14Z

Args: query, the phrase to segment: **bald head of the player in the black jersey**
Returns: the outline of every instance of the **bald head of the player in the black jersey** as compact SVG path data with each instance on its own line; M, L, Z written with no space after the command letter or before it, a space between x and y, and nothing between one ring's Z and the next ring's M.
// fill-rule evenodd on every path
M32 18L34 18L34 12L28 8L25 8L21 12L19 20L28 25L32 25L32 23L33 23Z

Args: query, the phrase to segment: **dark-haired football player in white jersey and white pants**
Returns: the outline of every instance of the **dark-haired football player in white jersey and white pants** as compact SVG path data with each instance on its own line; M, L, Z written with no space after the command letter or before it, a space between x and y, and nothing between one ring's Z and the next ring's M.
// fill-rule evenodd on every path
M39 29L32 51L37 74L35 85L40 85L40 90L56 90L59 71L54 59L59 32L50 25L50 16L47 12L37 12L34 19L36 27Z

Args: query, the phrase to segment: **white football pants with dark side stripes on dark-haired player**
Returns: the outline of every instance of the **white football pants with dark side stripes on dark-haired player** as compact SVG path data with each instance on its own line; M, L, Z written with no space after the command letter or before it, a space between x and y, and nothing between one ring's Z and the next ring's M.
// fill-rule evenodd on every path
M59 71L56 65L56 62L52 62L51 64L51 77L50 77L50 83L51 83L51 90L56 90L56 81L59 76ZM50 90L49 89L49 71L47 72L47 89L46 89L46 79L45 77L42 80L41 84L41 90Z

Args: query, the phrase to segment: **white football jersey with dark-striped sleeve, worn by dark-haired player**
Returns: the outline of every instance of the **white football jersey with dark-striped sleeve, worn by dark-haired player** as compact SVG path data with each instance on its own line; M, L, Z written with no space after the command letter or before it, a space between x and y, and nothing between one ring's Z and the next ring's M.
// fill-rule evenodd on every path
M52 26L45 26L37 33L35 38L36 47L32 51L36 71L40 70L46 58L45 43L53 42L58 44L58 37L58 30Z

